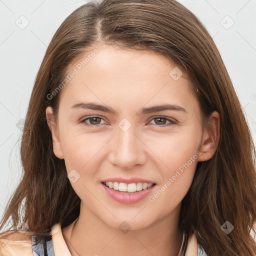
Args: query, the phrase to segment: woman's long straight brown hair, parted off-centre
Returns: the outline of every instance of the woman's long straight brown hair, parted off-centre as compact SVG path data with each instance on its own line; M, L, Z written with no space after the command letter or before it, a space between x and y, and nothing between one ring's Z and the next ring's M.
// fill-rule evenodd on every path
M187 71L202 119L214 110L219 113L217 149L209 160L197 163L181 202L179 224L187 234L197 231L208 255L255 255L250 235L256 221L255 146L216 45L195 15L175 0L89 2L63 21L36 76L22 133L22 179L0 227L11 217L11 227L22 219L27 232L49 235L53 224L67 226L79 215L80 198L64 160L53 153L45 108L57 113L61 91L52 98L47 95L59 86L68 65L97 43L164 55ZM221 230L225 221L234 226L228 234Z

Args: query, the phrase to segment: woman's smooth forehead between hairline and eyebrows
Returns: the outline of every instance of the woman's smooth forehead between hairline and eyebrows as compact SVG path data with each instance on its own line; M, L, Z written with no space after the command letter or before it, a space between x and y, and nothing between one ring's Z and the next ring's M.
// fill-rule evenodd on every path
M128 107L159 100L188 105L195 100L184 70L149 50L91 47L69 65L67 75L71 72L75 75L61 92L65 102L89 99Z

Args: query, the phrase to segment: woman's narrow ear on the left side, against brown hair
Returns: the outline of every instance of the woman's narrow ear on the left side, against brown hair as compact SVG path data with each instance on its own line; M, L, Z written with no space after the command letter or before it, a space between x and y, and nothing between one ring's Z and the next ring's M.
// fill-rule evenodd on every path
M62 151L60 140L59 140L58 126L54 122L52 107L47 106L45 110L45 114L47 118L47 124L51 131L53 152L55 156L57 156L59 159L64 159L63 151Z

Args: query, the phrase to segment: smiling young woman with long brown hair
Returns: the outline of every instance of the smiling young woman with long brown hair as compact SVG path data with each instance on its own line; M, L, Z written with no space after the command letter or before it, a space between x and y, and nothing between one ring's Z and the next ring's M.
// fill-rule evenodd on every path
M212 38L174 0L90 2L64 20L21 160L3 255L256 254L249 128Z

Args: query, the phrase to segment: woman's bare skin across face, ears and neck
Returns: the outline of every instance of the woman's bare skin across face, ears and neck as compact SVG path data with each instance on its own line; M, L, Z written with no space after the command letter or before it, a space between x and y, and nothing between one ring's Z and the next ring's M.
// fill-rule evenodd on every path
M176 256L182 242L177 225L180 203L197 161L208 160L216 150L219 115L213 112L210 128L202 127L199 104L186 73L182 70L183 75L174 80L169 75L174 65L164 56L109 45L97 48L99 53L61 90L57 120L51 107L46 108L54 154L65 160L67 173L75 169L80 175L71 182L81 199L79 219L70 240L67 227L62 228L63 237L72 256L133 256L134 252ZM70 70L81 59L70 64ZM80 102L110 106L117 114L71 107ZM142 107L166 103L179 105L186 112L135 115ZM87 119L91 126L80 122L94 115L102 119ZM161 127L170 121L158 116L176 123ZM126 131L118 126L123 118L131 124ZM153 195L197 151L201 152L198 158L154 202L147 196L137 203L122 204L102 189L103 179L136 176L155 181L149 194ZM118 228L123 221L131 227L125 234Z

